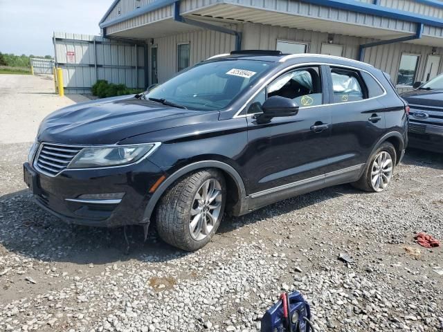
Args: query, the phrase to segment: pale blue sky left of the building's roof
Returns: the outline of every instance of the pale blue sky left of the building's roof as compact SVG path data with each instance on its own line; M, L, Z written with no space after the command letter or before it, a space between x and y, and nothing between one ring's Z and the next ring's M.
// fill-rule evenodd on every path
M100 35L113 0L0 0L0 52L54 56L53 32Z

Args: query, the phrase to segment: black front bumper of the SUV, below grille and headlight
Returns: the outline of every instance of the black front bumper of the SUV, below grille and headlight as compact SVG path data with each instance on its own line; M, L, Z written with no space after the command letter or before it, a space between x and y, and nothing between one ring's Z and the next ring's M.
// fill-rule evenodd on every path
M24 164L37 205L67 223L118 227L143 221L150 188L164 174L149 160L124 167L65 169L57 176ZM34 174L33 176L29 174ZM32 183L32 184L30 184ZM124 193L120 199L81 199L84 194Z

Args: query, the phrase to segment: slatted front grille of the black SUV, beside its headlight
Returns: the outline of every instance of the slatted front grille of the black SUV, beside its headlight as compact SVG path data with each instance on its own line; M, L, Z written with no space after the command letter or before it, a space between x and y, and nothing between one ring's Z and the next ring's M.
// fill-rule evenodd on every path
M52 143L42 143L34 167L48 176L55 176L71 163L71 160L83 149L70 145L57 145Z

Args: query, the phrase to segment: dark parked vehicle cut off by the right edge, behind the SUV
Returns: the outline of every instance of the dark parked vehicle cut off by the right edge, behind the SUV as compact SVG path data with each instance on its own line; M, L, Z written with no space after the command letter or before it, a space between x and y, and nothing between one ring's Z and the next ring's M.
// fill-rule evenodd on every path
M443 74L401 95L410 106L410 147L443 153Z

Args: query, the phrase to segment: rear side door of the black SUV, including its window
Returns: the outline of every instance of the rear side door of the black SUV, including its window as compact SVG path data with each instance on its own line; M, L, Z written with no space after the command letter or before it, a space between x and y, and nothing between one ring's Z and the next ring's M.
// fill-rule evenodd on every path
M366 71L330 66L328 73L332 116L329 172L354 176L385 132L385 109L377 98L385 91Z

